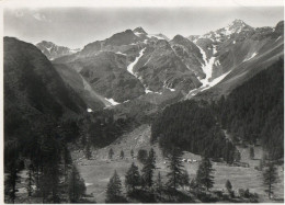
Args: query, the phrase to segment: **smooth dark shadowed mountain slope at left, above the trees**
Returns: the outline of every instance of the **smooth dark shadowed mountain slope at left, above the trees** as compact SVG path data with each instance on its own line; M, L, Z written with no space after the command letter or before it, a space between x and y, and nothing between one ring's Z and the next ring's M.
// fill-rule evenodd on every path
M58 121L86 110L82 99L65 84L34 45L4 37L5 137L13 136L19 126L29 122L43 117ZM26 123L18 124L19 121Z

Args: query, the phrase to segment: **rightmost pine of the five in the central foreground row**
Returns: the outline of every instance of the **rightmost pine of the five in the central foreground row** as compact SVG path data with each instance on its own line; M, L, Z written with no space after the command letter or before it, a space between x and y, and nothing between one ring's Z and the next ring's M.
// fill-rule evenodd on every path
M203 158L198 166L196 182L200 186L206 187L207 191L214 185L214 176L212 175L213 171L214 169L212 168L210 160L208 158Z

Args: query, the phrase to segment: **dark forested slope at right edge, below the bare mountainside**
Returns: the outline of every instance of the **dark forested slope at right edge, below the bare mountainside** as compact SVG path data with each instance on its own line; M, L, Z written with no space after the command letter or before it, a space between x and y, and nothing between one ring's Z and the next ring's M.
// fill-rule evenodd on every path
M284 59L280 59L214 105L237 139L261 140L274 159L284 150Z

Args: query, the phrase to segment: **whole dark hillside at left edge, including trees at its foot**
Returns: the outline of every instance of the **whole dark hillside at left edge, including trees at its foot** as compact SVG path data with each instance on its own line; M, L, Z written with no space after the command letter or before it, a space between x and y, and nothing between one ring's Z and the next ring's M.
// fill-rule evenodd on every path
M84 187L79 176L69 181L68 176L78 172L71 169L67 141L78 136L77 121L86 109L41 50L16 38L4 38L7 203L19 203L16 193L24 181L21 171L29 175L24 189L29 196L33 193L39 198L37 203L69 202L72 194L67 187L73 183Z

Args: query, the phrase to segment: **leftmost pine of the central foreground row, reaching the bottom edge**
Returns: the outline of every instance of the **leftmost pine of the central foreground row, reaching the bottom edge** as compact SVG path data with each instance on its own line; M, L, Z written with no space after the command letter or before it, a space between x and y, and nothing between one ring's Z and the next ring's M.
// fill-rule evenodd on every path
M118 203L122 197L122 182L119 176L115 170L113 176L110 179L107 183L106 190L106 203Z

